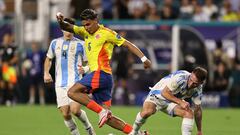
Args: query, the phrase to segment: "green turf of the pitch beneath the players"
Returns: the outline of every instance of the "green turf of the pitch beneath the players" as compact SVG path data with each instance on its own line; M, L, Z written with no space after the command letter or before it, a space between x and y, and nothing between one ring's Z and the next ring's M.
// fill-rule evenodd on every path
M84 108L94 125L98 135L122 135L108 126L97 128L98 116ZM113 107L115 115L129 123L133 123L139 107ZM204 135L240 135L240 109L204 109ZM78 121L82 135L86 135L82 124ZM162 112L149 118L143 129L151 135L180 135L181 119L171 118ZM63 119L53 106L0 106L0 135L70 135ZM193 135L196 135L196 127Z

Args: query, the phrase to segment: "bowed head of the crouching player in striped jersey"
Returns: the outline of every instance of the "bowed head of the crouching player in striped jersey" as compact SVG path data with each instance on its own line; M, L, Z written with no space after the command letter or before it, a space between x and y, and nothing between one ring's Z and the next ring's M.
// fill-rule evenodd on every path
M203 84L207 79L207 70L202 67L196 67L193 69L189 79L188 88L193 89Z

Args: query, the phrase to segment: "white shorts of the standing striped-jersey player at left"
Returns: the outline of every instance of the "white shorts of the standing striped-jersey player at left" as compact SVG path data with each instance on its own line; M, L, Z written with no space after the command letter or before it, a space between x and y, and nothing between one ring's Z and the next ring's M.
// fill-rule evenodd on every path
M67 92L70 87L56 87L56 98L57 98L57 107L70 105L71 102L75 102L67 96Z

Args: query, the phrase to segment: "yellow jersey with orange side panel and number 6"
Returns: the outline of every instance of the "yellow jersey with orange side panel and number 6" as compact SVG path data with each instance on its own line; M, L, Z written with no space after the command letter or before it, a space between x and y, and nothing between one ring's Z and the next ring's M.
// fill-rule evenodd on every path
M84 47L90 71L103 70L112 74L110 60L114 45L121 46L125 39L103 25L100 25L94 34L89 34L83 26L76 25L74 25L73 31L84 38Z

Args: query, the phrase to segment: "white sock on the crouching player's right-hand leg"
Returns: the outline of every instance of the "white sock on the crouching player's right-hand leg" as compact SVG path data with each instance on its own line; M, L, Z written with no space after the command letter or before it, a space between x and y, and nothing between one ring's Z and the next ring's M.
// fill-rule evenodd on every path
M182 121L182 135L191 135L194 120L190 118L183 118Z

